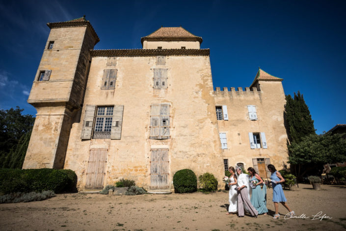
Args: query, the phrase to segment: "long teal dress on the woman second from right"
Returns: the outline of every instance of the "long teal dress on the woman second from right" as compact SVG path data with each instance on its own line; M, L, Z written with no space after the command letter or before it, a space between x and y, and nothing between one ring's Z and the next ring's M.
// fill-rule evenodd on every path
M252 182L253 180L258 182L256 176L251 177L250 181ZM266 184L263 184L263 188L261 188L261 185L257 185L256 188L252 189L250 202L256 208L258 214L268 212L268 209L266 208Z

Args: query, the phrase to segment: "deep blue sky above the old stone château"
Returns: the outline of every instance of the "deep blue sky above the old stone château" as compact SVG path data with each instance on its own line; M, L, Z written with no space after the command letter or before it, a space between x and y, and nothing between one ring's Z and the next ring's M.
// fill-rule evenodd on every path
M249 87L258 67L304 95L317 133L346 123L346 1L0 0L0 109L27 103L50 29L86 15L95 49L138 49L161 26L201 36L214 87Z

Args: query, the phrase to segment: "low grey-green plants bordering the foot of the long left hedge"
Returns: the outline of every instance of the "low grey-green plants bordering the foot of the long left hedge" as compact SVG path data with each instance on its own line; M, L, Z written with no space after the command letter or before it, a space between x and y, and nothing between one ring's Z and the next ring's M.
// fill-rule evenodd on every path
M53 191L43 191L42 193L10 193L0 196L0 203L43 201L52 197L55 197Z

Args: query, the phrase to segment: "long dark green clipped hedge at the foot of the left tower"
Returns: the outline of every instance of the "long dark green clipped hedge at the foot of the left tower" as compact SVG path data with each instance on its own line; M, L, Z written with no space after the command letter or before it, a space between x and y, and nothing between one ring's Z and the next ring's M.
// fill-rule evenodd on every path
M0 169L0 194L53 191L75 192L77 175L72 170Z

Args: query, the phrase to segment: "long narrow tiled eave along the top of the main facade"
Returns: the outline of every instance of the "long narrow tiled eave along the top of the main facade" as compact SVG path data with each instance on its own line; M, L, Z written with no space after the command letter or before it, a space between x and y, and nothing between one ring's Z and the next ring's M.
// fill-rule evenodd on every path
M123 50L91 50L92 57L109 56L209 56L209 49L123 49Z

